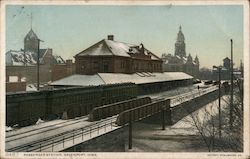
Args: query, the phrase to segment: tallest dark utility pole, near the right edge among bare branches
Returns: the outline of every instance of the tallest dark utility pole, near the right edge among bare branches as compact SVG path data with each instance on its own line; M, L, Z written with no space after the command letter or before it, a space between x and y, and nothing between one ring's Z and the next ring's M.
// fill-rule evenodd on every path
M233 39L231 41L231 98L230 98L230 117L229 125L233 128Z

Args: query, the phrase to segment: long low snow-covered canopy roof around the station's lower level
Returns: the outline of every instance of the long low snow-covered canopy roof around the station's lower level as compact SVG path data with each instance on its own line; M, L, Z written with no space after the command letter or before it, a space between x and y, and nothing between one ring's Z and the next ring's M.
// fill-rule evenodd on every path
M175 81L192 79L193 77L184 72L164 72L164 73L97 73L94 75L71 75L63 79L52 82L54 86L97 86L117 83L155 83L164 81Z

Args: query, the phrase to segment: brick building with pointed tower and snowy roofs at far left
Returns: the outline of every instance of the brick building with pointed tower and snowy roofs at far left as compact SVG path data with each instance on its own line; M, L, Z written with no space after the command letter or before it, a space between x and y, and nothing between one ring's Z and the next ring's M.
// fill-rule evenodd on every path
M38 37L31 29L24 38L24 49L6 53L6 79L9 76L25 77L27 83L37 81ZM52 49L40 49L40 81L54 81L74 73L72 61L53 55Z

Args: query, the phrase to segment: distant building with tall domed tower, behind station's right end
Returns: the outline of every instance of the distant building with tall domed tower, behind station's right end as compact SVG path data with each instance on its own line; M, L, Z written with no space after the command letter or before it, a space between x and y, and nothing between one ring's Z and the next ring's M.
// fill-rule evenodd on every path
M199 77L199 58L195 59L189 54L186 56L185 37L182 33L181 26L177 34L175 43L175 54L162 54L164 72L185 72L196 78Z

